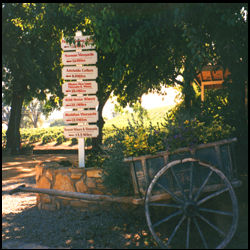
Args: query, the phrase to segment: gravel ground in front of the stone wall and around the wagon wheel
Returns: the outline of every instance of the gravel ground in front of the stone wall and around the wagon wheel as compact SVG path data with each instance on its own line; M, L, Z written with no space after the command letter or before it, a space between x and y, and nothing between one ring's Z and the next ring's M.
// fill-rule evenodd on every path
M227 249L248 249L248 180L236 190L239 201L239 225ZM34 176L25 184L35 184ZM2 248L3 249L149 249L158 248L146 224L142 206L127 207L112 203L95 210L38 210L36 196L7 190L20 182L9 183L2 189Z

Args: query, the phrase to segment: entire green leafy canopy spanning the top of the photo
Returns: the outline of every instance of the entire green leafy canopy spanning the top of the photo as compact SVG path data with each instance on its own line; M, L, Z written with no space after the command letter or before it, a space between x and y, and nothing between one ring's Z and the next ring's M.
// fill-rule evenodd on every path
M135 103L149 90L159 89L162 83L178 83L183 87L186 108L189 108L194 99L190 83L202 66L209 63L228 66L234 77L237 77L233 72L236 65L238 74L241 72L240 77L244 78L241 80L244 86L247 21L242 18L243 6L247 10L247 5L241 3L3 4L2 40L3 51L6 51L3 75L11 82L5 91L6 98L19 101L14 105L19 107L22 99L27 98L20 93L30 89L29 97L41 96L41 93L45 96L48 90L61 97L61 33L67 38L74 36L77 30L93 35L99 72L100 134L94 140L97 146L102 141L102 109L111 93L125 106ZM37 47L41 48L39 52L35 50ZM15 49L20 56L13 58ZM234 52L228 53L230 50ZM33 65L29 70L24 67L27 62ZM178 75L183 76L182 82L176 79ZM34 78L36 81L31 84ZM236 86L233 84L232 93L232 86ZM20 97L17 98L16 92ZM55 103L56 95L52 96L51 103ZM51 103L45 106L47 110L51 110ZM16 121L18 115L19 111L14 115ZM18 127L19 123L15 124Z

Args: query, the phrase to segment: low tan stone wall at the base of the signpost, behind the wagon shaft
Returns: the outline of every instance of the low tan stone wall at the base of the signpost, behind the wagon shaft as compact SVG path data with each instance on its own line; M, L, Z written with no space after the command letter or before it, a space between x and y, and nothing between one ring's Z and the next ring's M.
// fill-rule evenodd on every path
M43 162L36 166L36 187L88 194L107 194L102 181L102 170L95 168L63 167L58 162ZM37 194L39 209L56 210L62 206L78 208L105 205L105 202L86 201L67 197Z

